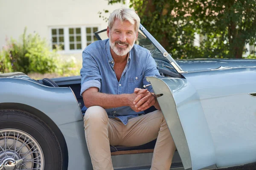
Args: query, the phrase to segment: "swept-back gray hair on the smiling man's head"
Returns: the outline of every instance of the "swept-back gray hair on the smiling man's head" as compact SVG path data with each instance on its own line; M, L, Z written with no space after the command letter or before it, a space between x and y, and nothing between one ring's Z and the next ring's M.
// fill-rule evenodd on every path
M129 21L131 24L135 25L135 31L139 31L140 27L140 17L136 14L133 9L130 8L120 8L114 10L108 18L108 28L111 29L115 19L122 22Z

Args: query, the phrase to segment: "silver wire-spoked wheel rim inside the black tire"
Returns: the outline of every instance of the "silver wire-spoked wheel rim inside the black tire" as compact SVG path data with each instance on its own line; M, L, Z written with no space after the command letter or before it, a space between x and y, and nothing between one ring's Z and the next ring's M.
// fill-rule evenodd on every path
M18 170L44 170L44 155L38 142L17 129L0 130L0 167L15 161L23 162Z

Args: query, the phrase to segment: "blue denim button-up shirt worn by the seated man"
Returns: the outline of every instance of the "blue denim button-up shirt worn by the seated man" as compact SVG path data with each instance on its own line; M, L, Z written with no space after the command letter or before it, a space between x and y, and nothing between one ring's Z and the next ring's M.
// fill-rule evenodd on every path
M143 85L149 84L145 77L160 76L150 52L139 45L134 45L129 52L127 64L119 81L113 69L115 62L108 39L88 45L82 57L80 95L91 87L99 88L99 92L105 94L132 94L134 88L143 88ZM148 90L152 91L152 87L148 86ZM82 111L86 111L86 108ZM128 119L144 113L135 112L128 106L106 109L106 112L109 117L120 119L124 125L128 123Z

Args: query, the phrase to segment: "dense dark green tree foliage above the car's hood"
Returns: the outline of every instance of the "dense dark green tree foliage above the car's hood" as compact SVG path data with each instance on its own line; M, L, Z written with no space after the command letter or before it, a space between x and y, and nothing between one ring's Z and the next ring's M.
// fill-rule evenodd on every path
M109 0L118 2L125 0ZM255 0L130 0L130 7L174 58L241 58L256 41Z

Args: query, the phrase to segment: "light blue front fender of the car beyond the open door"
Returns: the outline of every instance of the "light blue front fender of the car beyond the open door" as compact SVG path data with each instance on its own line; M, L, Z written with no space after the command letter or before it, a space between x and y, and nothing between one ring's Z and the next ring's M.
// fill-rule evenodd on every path
M256 68L184 75L204 109L218 167L256 161ZM202 83L204 82L204 83Z

